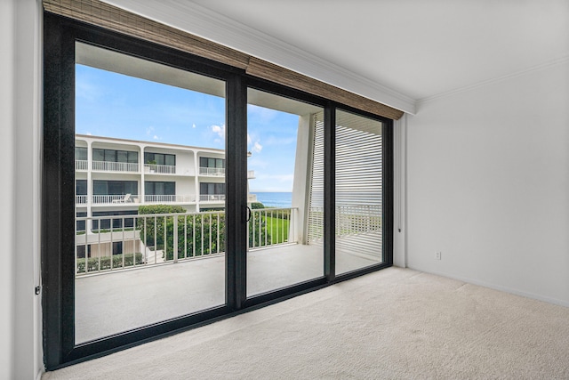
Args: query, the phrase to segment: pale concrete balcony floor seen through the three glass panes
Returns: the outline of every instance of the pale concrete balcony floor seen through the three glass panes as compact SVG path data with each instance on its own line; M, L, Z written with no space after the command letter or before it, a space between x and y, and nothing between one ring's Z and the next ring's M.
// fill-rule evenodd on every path
M380 246L381 247L381 246ZM336 272L381 259L336 249ZM288 245L250 251L247 295L323 276L323 248ZM225 303L225 256L76 278L76 343L180 317Z

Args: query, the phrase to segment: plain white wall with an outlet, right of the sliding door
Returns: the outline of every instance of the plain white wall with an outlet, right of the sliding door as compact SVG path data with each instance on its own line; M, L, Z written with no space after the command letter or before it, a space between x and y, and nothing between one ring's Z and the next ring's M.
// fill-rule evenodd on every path
M407 123L408 266L569 305L569 61Z

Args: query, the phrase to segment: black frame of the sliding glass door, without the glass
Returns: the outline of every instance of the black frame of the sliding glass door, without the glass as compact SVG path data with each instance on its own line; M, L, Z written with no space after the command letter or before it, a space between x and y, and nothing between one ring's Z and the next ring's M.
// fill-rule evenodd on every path
M148 327L87 342L75 344L74 317L74 263L65 253L75 249L75 43L81 41L117 52L131 54L149 61L165 63L169 66L215 77L227 83L226 138L226 217L227 251L226 282L227 304L206 311L196 312L169 319ZM278 289L274 292L246 297L246 128L247 87L268 93L290 97L325 108L330 115L335 108L352 111L358 115L384 121L383 139L384 171L384 263L334 276L333 271L333 233L325 239L325 265L328 270L320 279ZM123 350L182 330L202 326L212 321L228 318L244 311L300 295L320 287L326 287L341 280L378 271L392 263L392 219L393 219L393 169L392 133L393 122L358 109L352 109L326 101L323 98L277 85L264 79L251 77L243 69L182 53L157 44L140 41L80 21L44 12L44 156L42 193L42 276L44 280L43 334L44 364L48 370L65 367L76 362L100 357L111 352ZM333 158L333 123L325 126L326 162ZM388 138L389 136L389 138ZM229 141L231 144L229 145ZM325 166L326 183L333 183L333 163ZM334 187L327 186L325 192L326 228L333 226ZM72 255L71 255L72 257ZM332 267L331 267L332 265ZM72 291L70 291L70 289Z

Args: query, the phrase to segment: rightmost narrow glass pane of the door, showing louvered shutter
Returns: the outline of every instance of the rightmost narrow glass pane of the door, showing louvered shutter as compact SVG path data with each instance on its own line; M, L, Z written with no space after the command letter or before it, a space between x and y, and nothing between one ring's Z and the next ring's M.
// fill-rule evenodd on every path
M336 111L336 274L383 262L381 128Z

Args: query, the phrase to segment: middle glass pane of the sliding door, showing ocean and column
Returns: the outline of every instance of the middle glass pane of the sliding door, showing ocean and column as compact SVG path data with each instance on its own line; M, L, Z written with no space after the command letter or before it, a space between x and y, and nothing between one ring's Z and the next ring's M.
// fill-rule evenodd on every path
M247 99L252 296L324 275L323 247L312 244L307 232L316 116L323 109L251 88Z

